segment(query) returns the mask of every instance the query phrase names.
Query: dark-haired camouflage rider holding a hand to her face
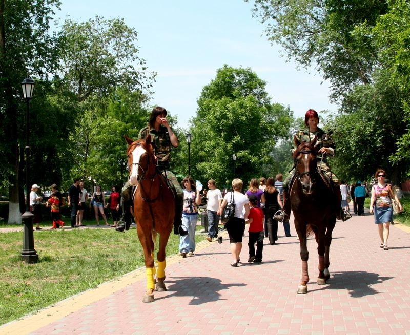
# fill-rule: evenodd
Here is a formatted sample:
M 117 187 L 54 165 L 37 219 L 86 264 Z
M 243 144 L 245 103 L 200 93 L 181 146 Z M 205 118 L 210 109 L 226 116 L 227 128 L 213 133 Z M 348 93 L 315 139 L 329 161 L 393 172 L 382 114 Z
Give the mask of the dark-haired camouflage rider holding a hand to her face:
M 162 107 L 155 107 L 151 113 L 150 121 L 147 127 L 142 128 L 138 134 L 138 139 L 146 139 L 148 135 L 151 135 L 152 146 L 154 149 L 155 157 L 157 158 L 157 165 L 161 172 L 165 173 L 167 179 L 170 181 L 171 187 L 173 186 L 175 198 L 175 219 L 174 219 L 174 233 L 178 234 L 179 227 L 181 226 L 182 206 L 183 206 L 183 191 L 178 183 L 175 175 L 169 170 L 171 159 L 171 148 L 176 148 L 178 138 L 171 129 L 167 116 L 167 110 Z M 124 217 L 122 223 L 115 229 L 120 232 L 128 230 L 131 224 L 131 217 L 129 217 L 130 206 L 132 204 L 132 185 L 129 181 L 122 187 L 122 202 L 124 208 Z

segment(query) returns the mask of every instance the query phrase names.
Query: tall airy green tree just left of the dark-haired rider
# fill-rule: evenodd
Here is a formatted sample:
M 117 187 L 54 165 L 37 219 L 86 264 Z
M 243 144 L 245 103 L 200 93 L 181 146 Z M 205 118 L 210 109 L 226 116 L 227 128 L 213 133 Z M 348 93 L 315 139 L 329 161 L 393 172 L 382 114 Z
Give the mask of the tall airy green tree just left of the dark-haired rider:
M 66 20 L 59 47 L 60 76 L 77 97 L 78 118 L 71 134 L 71 176 L 107 185 L 124 179 L 126 146 L 147 110 L 155 73 L 139 57 L 137 32 L 123 19 L 96 16 L 87 22 Z

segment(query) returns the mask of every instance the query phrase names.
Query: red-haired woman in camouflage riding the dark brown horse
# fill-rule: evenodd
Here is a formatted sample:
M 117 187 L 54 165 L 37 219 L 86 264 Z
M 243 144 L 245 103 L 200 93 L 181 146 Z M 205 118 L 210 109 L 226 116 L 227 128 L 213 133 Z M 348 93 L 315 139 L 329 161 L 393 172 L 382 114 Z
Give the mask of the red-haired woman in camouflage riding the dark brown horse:
M 322 129 L 318 127 L 319 116 L 317 112 L 313 109 L 310 109 L 306 112 L 304 116 L 304 124 L 306 128 L 299 130 L 296 133 L 296 139 L 299 142 L 311 142 L 316 136 L 316 143 L 314 144 L 315 148 L 318 150 L 318 156 L 316 157 L 317 165 L 320 171 L 325 173 L 327 177 L 332 181 L 332 186 L 334 193 L 336 195 L 336 208 L 338 208 L 337 217 L 342 221 L 346 221 L 351 218 L 351 215 L 348 212 L 343 211 L 341 208 L 342 196 L 340 193 L 339 179 L 336 175 L 330 170 L 329 165 L 327 165 L 327 156 L 335 155 L 335 144 L 329 134 L 326 134 Z M 295 144 L 292 148 L 292 154 L 296 151 Z M 276 215 L 275 219 L 278 221 L 283 221 L 284 218 L 289 218 L 291 215 L 291 202 L 289 201 L 289 183 L 291 182 L 295 170 L 292 170 L 288 177 L 283 182 L 283 211 L 281 214 Z

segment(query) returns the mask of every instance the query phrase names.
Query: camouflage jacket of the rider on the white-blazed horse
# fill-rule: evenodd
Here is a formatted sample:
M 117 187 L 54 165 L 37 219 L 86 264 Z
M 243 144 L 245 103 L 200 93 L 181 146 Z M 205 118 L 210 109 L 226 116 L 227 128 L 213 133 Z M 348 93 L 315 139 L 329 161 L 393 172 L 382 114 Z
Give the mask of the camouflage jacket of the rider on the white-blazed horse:
M 169 169 L 172 144 L 167 128 L 161 125 L 158 132 L 149 126 L 142 128 L 138 134 L 138 139 L 146 139 L 149 134 L 151 134 L 151 144 L 155 156 L 158 158 L 158 166 Z

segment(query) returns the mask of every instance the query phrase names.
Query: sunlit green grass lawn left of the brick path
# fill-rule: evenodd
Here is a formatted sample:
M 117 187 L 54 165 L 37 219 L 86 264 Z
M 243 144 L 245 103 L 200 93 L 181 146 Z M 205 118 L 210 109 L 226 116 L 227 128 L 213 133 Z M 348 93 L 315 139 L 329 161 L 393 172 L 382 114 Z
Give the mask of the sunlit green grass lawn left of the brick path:
M 95 221 L 84 223 L 91 225 Z M 197 233 L 201 230 L 198 226 Z M 196 242 L 205 237 L 197 234 Z M 133 227 L 126 233 L 114 228 L 34 232 L 34 248 L 39 255 L 36 264 L 20 258 L 22 232 L 0 233 L 0 241 L 0 324 L 144 266 L 142 247 Z M 179 237 L 172 232 L 167 255 L 178 254 L 178 246 Z

